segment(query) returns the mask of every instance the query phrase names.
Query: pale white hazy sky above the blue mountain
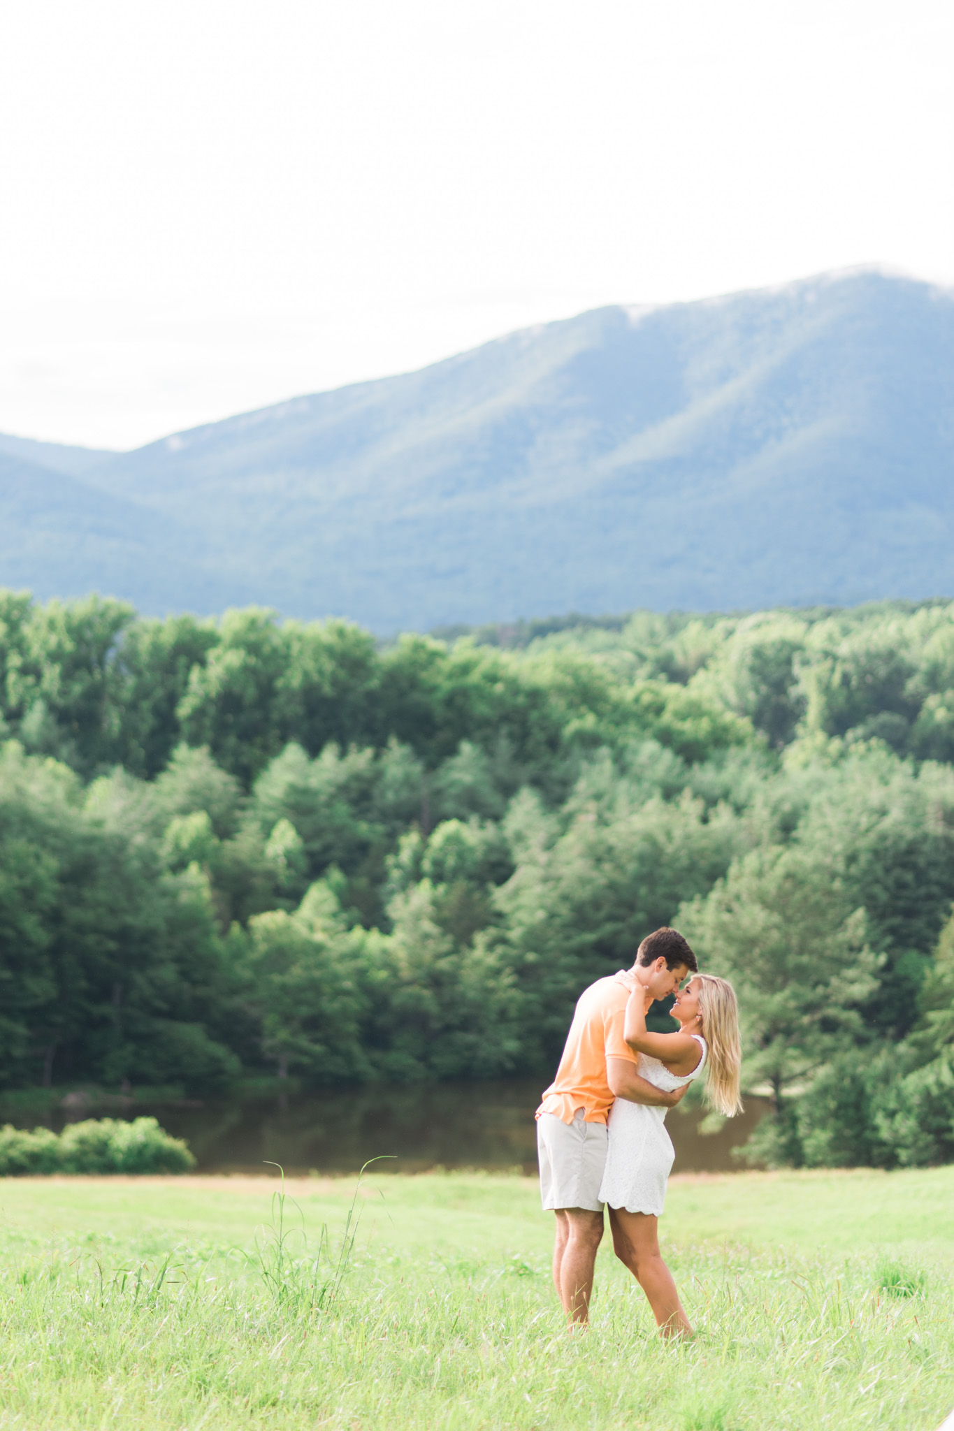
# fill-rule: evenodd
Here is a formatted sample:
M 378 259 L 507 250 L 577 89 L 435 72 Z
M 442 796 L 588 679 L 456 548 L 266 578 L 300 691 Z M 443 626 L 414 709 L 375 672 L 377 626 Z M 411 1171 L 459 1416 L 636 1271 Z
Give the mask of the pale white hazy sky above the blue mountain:
M 132 446 L 608 302 L 954 283 L 951 0 L 4 0 L 0 431 Z

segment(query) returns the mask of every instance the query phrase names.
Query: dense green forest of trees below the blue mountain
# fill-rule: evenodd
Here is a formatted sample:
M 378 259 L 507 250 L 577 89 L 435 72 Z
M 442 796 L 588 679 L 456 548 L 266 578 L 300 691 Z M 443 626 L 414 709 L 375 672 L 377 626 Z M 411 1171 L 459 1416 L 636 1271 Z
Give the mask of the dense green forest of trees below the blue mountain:
M 382 647 L 3 592 L 0 741 L 1 1086 L 545 1078 L 675 923 L 752 1156 L 954 1158 L 954 604 Z

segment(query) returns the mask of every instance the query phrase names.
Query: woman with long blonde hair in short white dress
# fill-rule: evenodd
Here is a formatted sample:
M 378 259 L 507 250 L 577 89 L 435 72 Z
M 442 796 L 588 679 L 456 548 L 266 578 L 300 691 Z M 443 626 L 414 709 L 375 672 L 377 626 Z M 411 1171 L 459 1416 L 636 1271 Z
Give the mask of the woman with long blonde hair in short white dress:
M 741 1047 L 735 990 L 715 975 L 692 975 L 675 996 L 678 1033 L 649 1033 L 652 1002 L 642 985 L 629 995 L 624 1037 L 639 1056 L 639 1073 L 671 1092 L 705 1069 L 709 1106 L 727 1118 L 739 1113 Z M 658 1218 L 675 1156 L 665 1129 L 665 1108 L 646 1108 L 618 1098 L 608 1119 L 606 1168 L 599 1188 L 609 1203 L 616 1256 L 625 1262 L 649 1299 L 664 1337 L 692 1335 L 672 1274 L 659 1255 Z

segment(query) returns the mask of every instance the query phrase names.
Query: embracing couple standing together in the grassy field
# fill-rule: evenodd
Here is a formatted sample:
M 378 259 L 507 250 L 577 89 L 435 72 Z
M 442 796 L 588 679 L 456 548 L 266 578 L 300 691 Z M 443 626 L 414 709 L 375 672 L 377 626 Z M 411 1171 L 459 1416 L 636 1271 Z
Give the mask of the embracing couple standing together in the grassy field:
M 678 1033 L 649 1033 L 649 1006 L 669 995 Z M 675 929 L 648 934 L 632 969 L 581 995 L 536 1110 L 544 1208 L 556 1213 L 554 1282 L 572 1322 L 588 1319 L 608 1205 L 614 1251 L 646 1294 L 657 1325 L 665 1337 L 692 1335 L 659 1255 L 674 1158 L 665 1115 L 702 1073 L 709 1103 L 727 1116 L 739 1112 L 739 1065 L 732 986 L 701 975 Z

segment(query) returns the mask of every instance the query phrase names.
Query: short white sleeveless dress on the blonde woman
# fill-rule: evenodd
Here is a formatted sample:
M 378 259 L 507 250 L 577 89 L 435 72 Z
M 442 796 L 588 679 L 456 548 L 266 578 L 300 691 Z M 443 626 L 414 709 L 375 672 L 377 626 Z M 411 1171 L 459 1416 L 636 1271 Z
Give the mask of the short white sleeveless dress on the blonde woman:
M 684 1083 L 691 1083 L 705 1068 L 705 1039 L 694 1033 L 702 1046 L 702 1058 L 684 1078 L 669 1073 L 659 1059 L 639 1055 L 636 1072 L 655 1088 L 671 1093 Z M 669 1169 L 675 1158 L 672 1139 L 665 1126 L 665 1108 L 648 1108 L 645 1103 L 631 1103 L 618 1098 L 609 1109 L 606 1128 L 606 1166 L 599 1185 L 599 1201 L 611 1208 L 625 1208 L 626 1212 L 649 1212 L 662 1215 Z

